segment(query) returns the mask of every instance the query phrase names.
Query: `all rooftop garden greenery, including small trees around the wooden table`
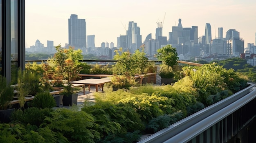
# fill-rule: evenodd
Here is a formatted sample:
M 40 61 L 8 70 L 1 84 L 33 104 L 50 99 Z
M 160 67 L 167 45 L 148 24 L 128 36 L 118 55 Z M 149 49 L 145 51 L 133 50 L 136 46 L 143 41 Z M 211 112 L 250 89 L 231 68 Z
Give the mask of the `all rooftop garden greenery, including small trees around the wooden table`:
M 178 66 L 171 45 L 161 48 L 158 57 L 163 60 L 159 65 L 162 70 L 172 73 L 172 83 L 138 84 L 136 75 L 156 73 L 154 65 L 146 62 L 143 48 L 134 54 L 116 51 L 119 62 L 111 68 L 78 62 L 80 51 L 72 47 L 56 47 L 59 51 L 47 63 L 27 64 L 18 74 L 16 88 L 22 104 L 8 122 L 1 121 L 0 142 L 135 143 L 141 134 L 153 134 L 247 87 L 247 76 L 216 63 Z M 52 81 L 60 81 L 58 84 L 67 88 L 68 81 L 81 72 L 111 74 L 112 81 L 104 86 L 105 92 L 94 92 L 95 102 L 85 101 L 81 109 L 74 105 L 70 109 L 53 108 L 56 104 L 49 91 L 58 82 Z M 0 106 L 10 102 L 4 93 L 14 89 L 7 87 L 0 85 Z M 22 99 L 31 90 L 35 98 L 25 105 Z

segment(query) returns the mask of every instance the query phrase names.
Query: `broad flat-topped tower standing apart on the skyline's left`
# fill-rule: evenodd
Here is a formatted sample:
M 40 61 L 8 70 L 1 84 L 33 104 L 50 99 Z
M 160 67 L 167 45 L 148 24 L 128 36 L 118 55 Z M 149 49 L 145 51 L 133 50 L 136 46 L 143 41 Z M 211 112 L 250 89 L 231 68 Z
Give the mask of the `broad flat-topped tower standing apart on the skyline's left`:
M 86 48 L 86 22 L 78 19 L 76 14 L 68 19 L 68 44 L 75 48 Z

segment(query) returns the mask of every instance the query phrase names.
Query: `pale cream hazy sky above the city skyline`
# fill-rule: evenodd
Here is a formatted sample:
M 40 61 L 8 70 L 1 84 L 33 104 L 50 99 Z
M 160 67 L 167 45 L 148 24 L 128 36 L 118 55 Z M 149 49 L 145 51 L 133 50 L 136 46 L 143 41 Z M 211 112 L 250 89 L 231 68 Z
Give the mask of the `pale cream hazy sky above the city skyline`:
M 169 39 L 172 26 L 182 20 L 183 27 L 198 26 L 198 36 L 204 35 L 205 24 L 211 24 L 212 39 L 223 37 L 229 29 L 236 29 L 240 38 L 255 44 L 256 0 L 26 0 L 26 47 L 39 40 L 47 46 L 68 43 L 68 19 L 71 14 L 86 21 L 86 35 L 95 35 L 95 46 L 113 42 L 126 35 L 129 21 L 140 27 L 142 42 L 152 33 L 155 39 L 157 22 L 163 23 L 163 36 Z

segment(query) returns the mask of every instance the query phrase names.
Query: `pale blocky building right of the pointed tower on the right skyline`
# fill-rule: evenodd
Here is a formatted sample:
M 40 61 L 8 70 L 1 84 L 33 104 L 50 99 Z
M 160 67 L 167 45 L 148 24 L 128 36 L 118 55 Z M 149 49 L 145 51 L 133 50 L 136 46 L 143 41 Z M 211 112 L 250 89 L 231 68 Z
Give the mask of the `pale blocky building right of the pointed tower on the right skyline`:
M 211 41 L 210 55 L 227 54 L 227 42 L 222 39 L 213 39 Z

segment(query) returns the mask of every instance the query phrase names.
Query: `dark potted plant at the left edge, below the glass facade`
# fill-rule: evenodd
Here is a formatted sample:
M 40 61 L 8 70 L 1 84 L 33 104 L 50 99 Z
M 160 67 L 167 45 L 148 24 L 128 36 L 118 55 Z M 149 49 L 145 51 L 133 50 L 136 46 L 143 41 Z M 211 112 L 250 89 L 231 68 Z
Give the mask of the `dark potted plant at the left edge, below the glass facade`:
M 0 75 L 0 122 L 8 123 L 14 108 L 9 108 L 14 96 L 14 88 L 7 84 L 6 78 Z

